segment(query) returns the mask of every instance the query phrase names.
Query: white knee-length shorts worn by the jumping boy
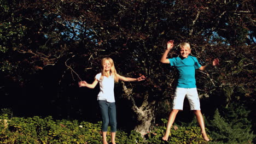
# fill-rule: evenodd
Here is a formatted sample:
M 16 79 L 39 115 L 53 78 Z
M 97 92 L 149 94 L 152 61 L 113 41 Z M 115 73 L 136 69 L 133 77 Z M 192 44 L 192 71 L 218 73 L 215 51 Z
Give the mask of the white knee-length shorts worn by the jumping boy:
M 201 110 L 197 89 L 180 87 L 176 88 L 172 109 L 183 110 L 183 103 L 186 96 L 189 101 L 190 110 Z

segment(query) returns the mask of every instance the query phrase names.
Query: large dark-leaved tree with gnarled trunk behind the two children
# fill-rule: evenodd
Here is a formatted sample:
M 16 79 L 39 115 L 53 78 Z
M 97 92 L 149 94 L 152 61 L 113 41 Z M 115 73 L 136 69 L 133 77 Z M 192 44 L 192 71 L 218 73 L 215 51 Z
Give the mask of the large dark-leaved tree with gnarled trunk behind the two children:
M 155 112 L 168 105 L 163 101 L 175 88 L 176 70 L 159 62 L 167 40 L 173 39 L 176 48 L 188 41 L 191 55 L 201 64 L 220 58 L 220 67 L 197 72 L 200 97 L 216 100 L 218 95 L 219 102 L 228 105 L 254 93 L 253 1 L 0 2 L 6 11 L 0 21 L 4 77 L 27 85 L 28 74 L 52 66 L 57 70 L 53 86 L 59 98 L 65 88 L 77 86 L 80 77 L 92 80 L 100 59 L 112 57 L 118 73 L 147 77 L 145 82 L 117 85 L 123 88 L 118 93 L 131 101 L 138 122 L 135 129 L 141 134 L 149 131 Z M 69 95 L 65 100 L 71 97 L 78 98 Z

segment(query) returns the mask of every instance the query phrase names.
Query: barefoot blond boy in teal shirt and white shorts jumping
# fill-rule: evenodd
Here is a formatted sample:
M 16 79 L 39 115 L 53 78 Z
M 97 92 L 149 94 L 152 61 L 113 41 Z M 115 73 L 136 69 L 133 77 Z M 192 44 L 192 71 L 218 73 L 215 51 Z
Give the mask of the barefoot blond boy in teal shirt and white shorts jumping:
M 190 45 L 188 43 L 181 43 L 180 47 L 180 56 L 167 59 L 168 52 L 173 48 L 173 40 L 168 41 L 167 49 L 162 55 L 162 63 L 170 63 L 171 66 L 174 66 L 178 69 L 179 79 L 175 92 L 175 97 L 173 99 L 173 108 L 170 113 L 167 128 L 164 137 L 162 140 L 167 141 L 168 136 L 170 135 L 172 124 L 175 120 L 175 117 L 179 110 L 183 110 L 183 101 L 185 96 L 189 100 L 190 110 L 196 115 L 197 122 L 200 125 L 202 137 L 205 141 L 209 141 L 209 138 L 205 131 L 205 123 L 203 122 L 203 116 L 200 110 L 200 101 L 197 94 L 196 82 L 195 82 L 195 70 L 205 70 L 209 64 L 201 66 L 197 61 L 196 57 L 189 56 Z M 212 65 L 218 65 L 219 59 L 214 59 Z

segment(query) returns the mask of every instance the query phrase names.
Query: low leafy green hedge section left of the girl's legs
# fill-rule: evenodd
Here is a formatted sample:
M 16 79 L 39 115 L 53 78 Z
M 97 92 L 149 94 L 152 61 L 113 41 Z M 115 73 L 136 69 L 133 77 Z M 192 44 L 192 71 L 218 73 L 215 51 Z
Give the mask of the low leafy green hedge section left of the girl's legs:
M 4 119 L 6 117 L 1 117 Z M 1 126 L 3 122 L 1 121 Z M 13 117 L 1 127 L 0 143 L 101 143 L 101 123 Z

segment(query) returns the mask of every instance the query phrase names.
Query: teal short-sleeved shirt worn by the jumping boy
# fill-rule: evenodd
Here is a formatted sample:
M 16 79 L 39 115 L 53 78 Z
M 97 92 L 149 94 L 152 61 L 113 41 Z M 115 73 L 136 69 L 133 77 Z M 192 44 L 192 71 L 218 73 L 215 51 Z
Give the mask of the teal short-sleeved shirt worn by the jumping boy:
M 179 71 L 179 79 L 177 87 L 181 88 L 195 88 L 195 70 L 199 69 L 201 65 L 196 57 L 188 56 L 181 59 L 180 57 L 169 58 L 171 66 L 174 66 Z

